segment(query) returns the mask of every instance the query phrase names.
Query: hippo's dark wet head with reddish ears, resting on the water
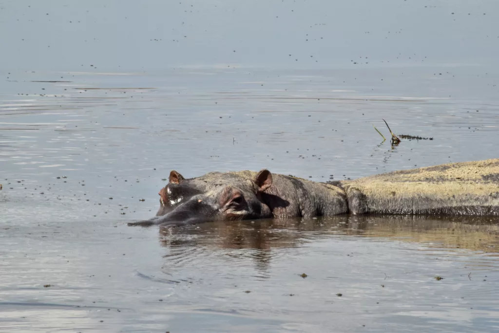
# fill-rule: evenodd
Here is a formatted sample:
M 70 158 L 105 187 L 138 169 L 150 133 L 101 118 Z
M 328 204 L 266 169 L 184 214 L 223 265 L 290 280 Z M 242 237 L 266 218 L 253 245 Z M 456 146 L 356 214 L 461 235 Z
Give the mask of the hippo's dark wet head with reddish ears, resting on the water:
M 254 172 L 213 172 L 185 179 L 176 171 L 159 192 L 156 217 L 130 225 L 190 225 L 208 221 L 246 220 L 272 217 L 261 193 L 272 185 L 266 169 Z

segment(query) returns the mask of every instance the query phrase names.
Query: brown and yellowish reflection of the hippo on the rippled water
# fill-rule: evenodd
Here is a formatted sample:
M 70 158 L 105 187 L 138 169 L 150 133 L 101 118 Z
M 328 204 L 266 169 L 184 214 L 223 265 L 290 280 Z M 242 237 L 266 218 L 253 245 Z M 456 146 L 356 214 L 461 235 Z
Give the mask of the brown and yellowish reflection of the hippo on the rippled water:
M 180 229 L 160 227 L 160 243 L 169 249 L 165 258 L 170 263 L 176 263 L 175 258 L 184 262 L 191 255 L 198 256 L 197 251 L 189 252 L 192 249 L 219 249 L 233 258 L 253 259 L 257 270 L 265 270 L 272 256 L 279 255 L 279 251 L 272 250 L 306 247 L 307 243 L 329 238 L 352 239 L 351 236 L 418 243 L 433 250 L 469 250 L 496 257 L 499 225 L 497 219 L 489 217 L 336 216 L 215 222 Z

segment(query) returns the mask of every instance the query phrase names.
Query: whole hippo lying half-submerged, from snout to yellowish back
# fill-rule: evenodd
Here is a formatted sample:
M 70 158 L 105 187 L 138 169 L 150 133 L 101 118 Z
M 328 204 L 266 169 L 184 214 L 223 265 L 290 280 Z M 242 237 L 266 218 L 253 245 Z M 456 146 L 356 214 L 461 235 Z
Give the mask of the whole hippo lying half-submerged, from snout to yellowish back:
M 188 225 L 215 220 L 428 214 L 499 216 L 499 159 L 395 171 L 317 183 L 260 172 L 170 173 L 151 220 L 129 225 Z

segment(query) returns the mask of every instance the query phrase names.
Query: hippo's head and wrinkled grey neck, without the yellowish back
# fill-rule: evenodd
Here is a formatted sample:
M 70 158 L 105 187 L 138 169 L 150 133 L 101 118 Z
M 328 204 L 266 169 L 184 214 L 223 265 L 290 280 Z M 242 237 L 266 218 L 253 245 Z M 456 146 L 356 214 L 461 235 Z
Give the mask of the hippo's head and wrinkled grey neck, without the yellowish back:
M 190 225 L 215 220 L 330 216 L 347 212 L 338 186 L 259 172 L 210 172 L 184 179 L 176 171 L 160 190 L 156 217 L 129 225 Z

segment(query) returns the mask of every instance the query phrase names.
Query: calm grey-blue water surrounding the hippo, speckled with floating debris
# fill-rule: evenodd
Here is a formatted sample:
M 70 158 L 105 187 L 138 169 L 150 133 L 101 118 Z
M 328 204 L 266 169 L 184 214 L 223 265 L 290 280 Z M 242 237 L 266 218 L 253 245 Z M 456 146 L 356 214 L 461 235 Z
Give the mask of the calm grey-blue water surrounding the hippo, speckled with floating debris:
M 126 227 L 172 169 L 498 157 L 495 1 L 267 2 L 0 2 L 0 331 L 499 330 L 497 219 Z

